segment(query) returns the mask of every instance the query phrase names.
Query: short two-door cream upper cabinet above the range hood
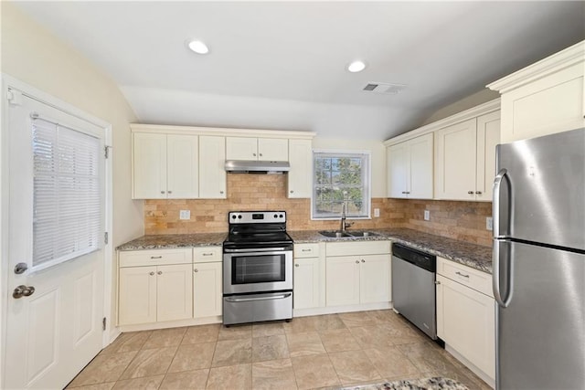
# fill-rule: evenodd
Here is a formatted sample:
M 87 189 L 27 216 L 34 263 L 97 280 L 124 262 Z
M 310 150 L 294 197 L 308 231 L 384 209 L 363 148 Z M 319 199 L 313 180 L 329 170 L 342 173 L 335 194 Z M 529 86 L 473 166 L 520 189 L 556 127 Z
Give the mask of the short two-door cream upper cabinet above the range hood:
M 228 137 L 228 160 L 288 161 L 288 140 L 283 138 Z

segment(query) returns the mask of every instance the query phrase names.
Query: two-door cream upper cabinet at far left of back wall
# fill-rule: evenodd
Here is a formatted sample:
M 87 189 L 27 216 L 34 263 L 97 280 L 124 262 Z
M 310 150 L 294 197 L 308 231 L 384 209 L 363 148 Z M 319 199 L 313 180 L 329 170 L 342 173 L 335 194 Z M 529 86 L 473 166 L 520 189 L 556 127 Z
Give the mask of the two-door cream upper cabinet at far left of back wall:
M 197 198 L 198 137 L 133 133 L 133 199 Z

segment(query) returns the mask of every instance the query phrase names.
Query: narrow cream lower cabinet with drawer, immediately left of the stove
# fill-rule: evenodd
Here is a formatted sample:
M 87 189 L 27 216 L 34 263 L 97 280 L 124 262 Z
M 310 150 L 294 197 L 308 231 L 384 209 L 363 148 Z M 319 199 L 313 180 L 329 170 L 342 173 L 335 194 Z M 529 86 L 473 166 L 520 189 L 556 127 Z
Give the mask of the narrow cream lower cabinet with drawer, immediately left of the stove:
M 193 248 L 193 317 L 219 316 L 222 312 L 221 247 Z

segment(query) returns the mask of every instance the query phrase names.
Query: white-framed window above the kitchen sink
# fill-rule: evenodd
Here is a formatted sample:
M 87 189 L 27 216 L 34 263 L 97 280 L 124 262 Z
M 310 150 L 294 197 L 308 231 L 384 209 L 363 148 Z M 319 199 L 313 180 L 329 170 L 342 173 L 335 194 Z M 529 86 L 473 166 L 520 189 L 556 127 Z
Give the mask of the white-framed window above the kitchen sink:
M 315 151 L 313 154 L 313 219 L 346 216 L 369 218 L 369 153 Z

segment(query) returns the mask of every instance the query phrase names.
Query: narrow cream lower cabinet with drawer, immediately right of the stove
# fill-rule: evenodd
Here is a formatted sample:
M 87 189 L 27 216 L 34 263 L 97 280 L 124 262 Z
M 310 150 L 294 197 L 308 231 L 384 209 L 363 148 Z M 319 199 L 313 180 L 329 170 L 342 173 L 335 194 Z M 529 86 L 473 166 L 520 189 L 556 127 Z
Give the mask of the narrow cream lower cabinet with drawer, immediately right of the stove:
M 294 244 L 293 308 L 324 306 L 324 258 L 320 244 Z

